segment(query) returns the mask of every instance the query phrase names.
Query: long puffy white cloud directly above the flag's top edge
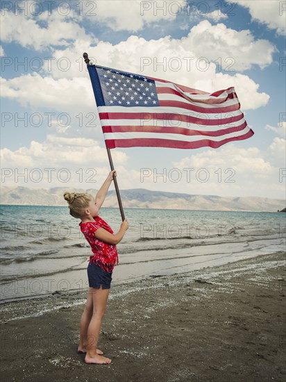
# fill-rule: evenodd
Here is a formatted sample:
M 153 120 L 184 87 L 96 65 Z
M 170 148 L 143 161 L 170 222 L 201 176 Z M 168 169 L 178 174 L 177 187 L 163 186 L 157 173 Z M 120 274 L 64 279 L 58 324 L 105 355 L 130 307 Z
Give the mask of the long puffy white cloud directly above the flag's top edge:
M 209 79 L 216 70 L 226 69 L 233 75 L 253 65 L 265 67 L 272 63 L 272 54 L 276 51 L 270 42 L 255 40 L 249 31 L 237 32 L 224 24 L 212 26 L 204 20 L 180 39 L 165 36 L 145 40 L 131 35 L 118 44 L 101 41 L 95 47 L 78 39 L 65 49 L 53 49 L 54 60 L 46 60 L 44 69 L 53 78 L 86 76 L 83 49 L 99 65 L 158 78 L 167 76 L 166 79 L 185 85 L 194 81 L 193 78 Z M 68 70 L 65 70 L 64 58 L 69 60 Z

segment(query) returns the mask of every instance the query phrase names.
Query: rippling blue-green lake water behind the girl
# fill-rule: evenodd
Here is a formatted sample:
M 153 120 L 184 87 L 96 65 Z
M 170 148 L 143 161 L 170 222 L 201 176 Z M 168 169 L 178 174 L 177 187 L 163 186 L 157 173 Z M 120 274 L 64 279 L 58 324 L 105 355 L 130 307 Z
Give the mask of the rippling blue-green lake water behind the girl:
M 100 216 L 117 232 L 119 209 Z M 118 246 L 112 288 L 285 251 L 286 214 L 203 210 L 124 210 L 130 228 Z M 1 302 L 86 290 L 92 254 L 79 219 L 60 206 L 1 206 Z

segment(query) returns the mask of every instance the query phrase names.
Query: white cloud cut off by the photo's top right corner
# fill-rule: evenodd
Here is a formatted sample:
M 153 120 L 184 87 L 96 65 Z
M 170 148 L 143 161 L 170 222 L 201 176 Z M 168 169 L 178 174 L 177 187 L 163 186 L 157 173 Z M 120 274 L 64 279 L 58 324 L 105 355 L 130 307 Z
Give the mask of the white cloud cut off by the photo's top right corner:
M 279 35 L 285 34 L 285 1 L 280 0 L 234 0 L 249 9 L 253 20 L 276 29 Z

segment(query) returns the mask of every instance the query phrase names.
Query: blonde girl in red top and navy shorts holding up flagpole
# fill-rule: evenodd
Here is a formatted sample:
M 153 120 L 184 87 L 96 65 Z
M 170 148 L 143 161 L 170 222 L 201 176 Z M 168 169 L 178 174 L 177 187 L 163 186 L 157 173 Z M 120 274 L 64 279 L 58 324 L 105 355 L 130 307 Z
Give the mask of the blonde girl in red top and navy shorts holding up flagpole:
M 81 219 L 81 232 L 92 248 L 93 255 L 87 266 L 87 276 L 90 288 L 87 293 L 85 310 L 81 317 L 81 340 L 78 353 L 86 353 L 85 363 L 111 363 L 110 358 L 103 357 L 103 352 L 96 349 L 101 329 L 101 320 L 106 312 L 106 303 L 112 280 L 112 271 L 118 264 L 116 244 L 118 244 L 128 229 L 125 219 L 119 231 L 114 234 L 110 226 L 99 217 L 99 209 L 103 204 L 110 183 L 116 176 L 111 171 L 96 197 L 90 194 L 73 194 L 65 192 L 64 198 L 69 204 L 69 213 Z

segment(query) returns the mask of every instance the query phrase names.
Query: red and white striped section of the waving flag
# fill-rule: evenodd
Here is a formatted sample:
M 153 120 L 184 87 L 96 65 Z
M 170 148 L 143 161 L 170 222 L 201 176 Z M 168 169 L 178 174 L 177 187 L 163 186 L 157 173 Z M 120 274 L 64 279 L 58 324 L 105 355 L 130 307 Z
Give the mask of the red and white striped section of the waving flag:
M 155 80 L 160 106 L 100 106 L 106 146 L 220 147 L 253 135 L 234 88 L 212 94 Z M 153 89 L 153 91 L 155 91 Z

